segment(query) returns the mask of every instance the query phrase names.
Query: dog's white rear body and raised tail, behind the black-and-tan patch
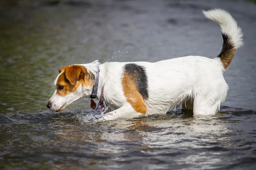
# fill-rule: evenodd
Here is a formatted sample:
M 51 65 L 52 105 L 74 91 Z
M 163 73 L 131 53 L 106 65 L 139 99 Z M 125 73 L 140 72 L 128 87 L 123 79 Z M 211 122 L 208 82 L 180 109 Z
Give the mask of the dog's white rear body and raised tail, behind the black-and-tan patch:
M 184 109 L 193 109 L 194 115 L 211 115 L 226 99 L 228 85 L 223 72 L 243 44 L 241 28 L 221 9 L 203 13 L 221 26 L 221 53 L 215 59 L 187 56 L 150 64 L 135 62 L 145 67 L 148 75 L 146 114 L 164 114 L 181 103 Z

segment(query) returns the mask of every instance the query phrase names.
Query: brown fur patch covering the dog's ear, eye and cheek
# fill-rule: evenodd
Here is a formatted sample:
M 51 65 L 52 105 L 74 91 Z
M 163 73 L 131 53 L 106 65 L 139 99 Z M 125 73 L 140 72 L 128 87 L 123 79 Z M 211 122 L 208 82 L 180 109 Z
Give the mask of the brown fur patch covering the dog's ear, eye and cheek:
M 82 86 L 87 88 L 93 87 L 94 75 L 87 73 L 87 69 L 81 65 L 66 65 L 59 70 L 63 73 L 58 77 L 56 89 L 59 96 L 66 96 L 67 94 L 76 91 L 82 83 Z

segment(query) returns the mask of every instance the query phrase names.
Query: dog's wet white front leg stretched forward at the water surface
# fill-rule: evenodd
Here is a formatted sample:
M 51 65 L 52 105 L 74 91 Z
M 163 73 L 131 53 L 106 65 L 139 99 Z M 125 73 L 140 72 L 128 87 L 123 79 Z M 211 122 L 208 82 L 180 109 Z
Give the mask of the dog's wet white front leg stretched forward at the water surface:
M 127 119 L 145 115 L 143 113 L 138 113 L 132 108 L 130 104 L 123 105 L 121 108 L 118 108 L 114 111 L 106 113 L 103 117 L 103 121 L 105 120 L 113 120 L 113 119 Z

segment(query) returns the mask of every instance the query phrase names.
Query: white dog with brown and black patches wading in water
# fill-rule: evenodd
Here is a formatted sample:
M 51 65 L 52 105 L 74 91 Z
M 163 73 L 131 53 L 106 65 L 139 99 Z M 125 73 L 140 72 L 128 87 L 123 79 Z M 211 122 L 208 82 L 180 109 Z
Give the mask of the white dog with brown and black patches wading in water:
M 214 115 L 227 97 L 223 73 L 243 45 L 243 35 L 227 11 L 212 9 L 203 14 L 221 27 L 223 47 L 214 59 L 186 56 L 158 62 L 100 64 L 96 60 L 67 65 L 59 70 L 47 107 L 60 112 L 75 100 L 90 96 L 100 99 L 102 110 L 103 100 L 111 105 L 104 120 L 166 114 L 178 104 L 192 110 L 194 116 Z

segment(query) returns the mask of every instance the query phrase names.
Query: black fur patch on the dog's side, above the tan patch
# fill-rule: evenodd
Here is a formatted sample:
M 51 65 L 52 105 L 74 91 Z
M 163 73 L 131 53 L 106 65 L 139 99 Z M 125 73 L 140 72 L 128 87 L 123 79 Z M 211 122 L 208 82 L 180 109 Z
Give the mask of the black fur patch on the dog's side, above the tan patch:
M 148 99 L 148 76 L 143 66 L 130 63 L 124 66 L 126 72 L 134 77 L 136 87 L 144 99 Z

